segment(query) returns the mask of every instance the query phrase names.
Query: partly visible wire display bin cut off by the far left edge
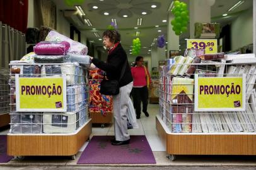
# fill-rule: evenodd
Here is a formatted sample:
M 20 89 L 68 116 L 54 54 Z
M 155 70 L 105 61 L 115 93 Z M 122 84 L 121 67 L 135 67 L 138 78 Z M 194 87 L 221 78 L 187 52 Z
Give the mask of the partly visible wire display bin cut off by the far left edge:
M 9 70 L 0 68 L 0 128 L 9 125 Z

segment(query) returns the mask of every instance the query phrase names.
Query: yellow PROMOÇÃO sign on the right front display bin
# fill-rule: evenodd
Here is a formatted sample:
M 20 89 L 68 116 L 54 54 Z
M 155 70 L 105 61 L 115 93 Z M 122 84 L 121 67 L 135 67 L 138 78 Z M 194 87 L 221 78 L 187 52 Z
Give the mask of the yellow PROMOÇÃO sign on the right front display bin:
M 195 111 L 245 111 L 245 80 L 195 74 Z

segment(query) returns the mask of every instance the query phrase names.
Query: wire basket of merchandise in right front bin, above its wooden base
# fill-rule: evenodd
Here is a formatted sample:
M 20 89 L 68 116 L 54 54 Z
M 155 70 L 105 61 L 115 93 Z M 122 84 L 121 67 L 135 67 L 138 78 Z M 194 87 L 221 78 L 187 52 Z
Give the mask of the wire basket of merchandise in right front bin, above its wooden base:
M 166 62 L 172 65 L 163 66 L 161 69 L 160 117 L 171 132 L 256 132 L 254 88 L 256 66 L 253 60 L 251 60 L 252 63 L 248 63 L 249 59 L 255 55 L 246 54 L 243 55 L 243 59 L 240 57 L 239 54 L 224 56 L 223 53 L 201 55 L 194 57 L 192 64 L 187 64 L 189 66 L 186 67 L 183 65 L 179 70 L 177 66 L 180 65 L 181 56 L 178 56 L 178 60 L 175 59 L 175 64 L 172 61 Z M 239 64 L 238 60 L 240 60 Z M 185 70 L 182 71 L 183 74 L 177 74 L 181 69 Z M 245 75 L 245 93 L 242 94 L 245 96 L 245 110 L 195 111 L 196 75 L 198 77 L 242 77 Z M 206 100 L 204 102 L 207 103 Z

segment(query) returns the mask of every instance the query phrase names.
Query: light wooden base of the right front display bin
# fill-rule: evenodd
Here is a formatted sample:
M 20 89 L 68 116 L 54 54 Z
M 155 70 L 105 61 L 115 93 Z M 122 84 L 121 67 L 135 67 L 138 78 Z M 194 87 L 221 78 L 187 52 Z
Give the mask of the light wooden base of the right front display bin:
M 256 155 L 256 133 L 171 133 L 156 116 L 156 130 L 175 155 Z

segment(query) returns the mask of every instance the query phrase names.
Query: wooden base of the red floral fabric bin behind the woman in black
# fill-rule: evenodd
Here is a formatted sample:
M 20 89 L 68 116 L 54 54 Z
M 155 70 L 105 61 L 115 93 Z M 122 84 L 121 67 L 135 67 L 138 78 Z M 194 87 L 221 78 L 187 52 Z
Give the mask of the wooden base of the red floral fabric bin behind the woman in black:
M 91 123 L 112 123 L 113 113 L 107 112 L 106 116 L 103 116 L 100 112 L 90 112 Z

